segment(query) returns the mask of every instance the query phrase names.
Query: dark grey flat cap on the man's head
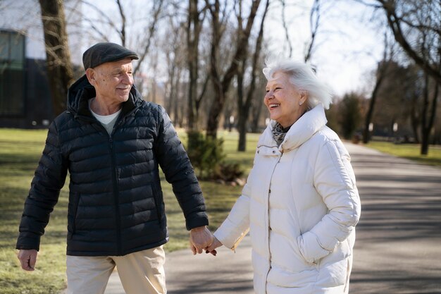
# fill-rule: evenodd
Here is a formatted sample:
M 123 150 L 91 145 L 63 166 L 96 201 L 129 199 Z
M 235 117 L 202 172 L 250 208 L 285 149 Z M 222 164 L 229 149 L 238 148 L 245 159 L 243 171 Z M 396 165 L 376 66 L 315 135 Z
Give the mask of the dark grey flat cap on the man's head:
M 100 64 L 121 59 L 139 59 L 134 51 L 131 51 L 116 43 L 102 42 L 94 44 L 82 54 L 82 64 L 87 68 L 94 68 Z

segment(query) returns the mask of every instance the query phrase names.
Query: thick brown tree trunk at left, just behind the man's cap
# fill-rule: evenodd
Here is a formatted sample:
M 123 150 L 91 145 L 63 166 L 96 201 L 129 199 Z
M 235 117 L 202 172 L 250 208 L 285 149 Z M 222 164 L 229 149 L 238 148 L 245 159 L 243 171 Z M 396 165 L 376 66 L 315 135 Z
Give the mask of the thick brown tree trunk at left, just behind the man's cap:
M 46 69 L 51 90 L 52 107 L 58 116 L 66 110 L 68 87 L 73 83 L 66 18 L 62 0 L 39 0 L 42 11 Z

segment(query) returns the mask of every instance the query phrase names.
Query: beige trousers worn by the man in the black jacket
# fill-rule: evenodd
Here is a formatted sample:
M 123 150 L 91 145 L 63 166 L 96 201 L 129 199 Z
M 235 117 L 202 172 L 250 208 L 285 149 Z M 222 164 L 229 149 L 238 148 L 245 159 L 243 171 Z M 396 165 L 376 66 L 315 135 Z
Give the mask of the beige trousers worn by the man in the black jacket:
M 68 255 L 68 294 L 103 294 L 115 267 L 118 269 L 125 293 L 165 294 L 165 260 L 162 246 L 124 256 Z

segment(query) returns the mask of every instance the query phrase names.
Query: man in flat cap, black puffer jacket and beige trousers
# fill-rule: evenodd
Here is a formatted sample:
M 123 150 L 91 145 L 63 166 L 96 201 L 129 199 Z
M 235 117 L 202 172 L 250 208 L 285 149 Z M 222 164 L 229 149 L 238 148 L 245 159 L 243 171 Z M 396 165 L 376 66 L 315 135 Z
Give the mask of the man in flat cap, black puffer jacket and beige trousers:
M 135 52 L 99 43 L 49 127 L 20 223 L 18 259 L 32 271 L 69 171 L 68 293 L 104 293 L 118 267 L 128 294 L 166 293 L 168 240 L 159 166 L 185 214 L 194 254 L 213 242 L 190 160 L 164 109 L 133 87 Z

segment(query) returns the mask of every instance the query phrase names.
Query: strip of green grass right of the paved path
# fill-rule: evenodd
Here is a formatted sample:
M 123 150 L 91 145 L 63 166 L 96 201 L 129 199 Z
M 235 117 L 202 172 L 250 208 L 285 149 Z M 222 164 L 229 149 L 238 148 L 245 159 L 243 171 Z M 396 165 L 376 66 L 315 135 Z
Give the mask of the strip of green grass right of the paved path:
M 420 145 L 415 144 L 393 144 L 391 142 L 369 142 L 367 147 L 377 149 L 380 152 L 392 154 L 418 161 L 421 164 L 441 166 L 441 147 L 430 145 L 428 155 L 420 154 Z

